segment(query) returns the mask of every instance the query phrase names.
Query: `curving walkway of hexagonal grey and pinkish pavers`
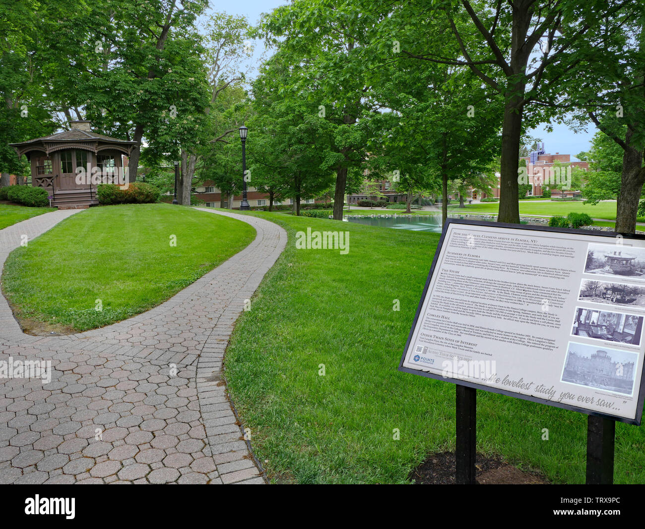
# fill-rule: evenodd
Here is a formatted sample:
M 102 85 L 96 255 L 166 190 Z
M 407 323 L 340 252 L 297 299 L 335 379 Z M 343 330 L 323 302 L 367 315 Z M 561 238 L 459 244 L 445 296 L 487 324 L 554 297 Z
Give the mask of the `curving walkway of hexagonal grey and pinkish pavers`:
M 264 482 L 221 368 L 244 300 L 283 251 L 286 232 L 251 216 L 201 211 L 249 223 L 257 236 L 144 314 L 77 335 L 34 337 L 0 296 L 0 360 L 52 360 L 49 384 L 0 379 L 0 483 Z M 75 213 L 1 230 L 0 268 L 21 236 L 32 240 Z

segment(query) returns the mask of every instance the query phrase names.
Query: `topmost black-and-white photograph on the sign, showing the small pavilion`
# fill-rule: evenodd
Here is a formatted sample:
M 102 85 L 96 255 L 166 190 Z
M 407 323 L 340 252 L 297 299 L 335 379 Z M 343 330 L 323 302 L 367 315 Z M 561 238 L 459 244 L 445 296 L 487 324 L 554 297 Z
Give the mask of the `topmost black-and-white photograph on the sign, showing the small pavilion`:
M 590 243 L 584 271 L 587 274 L 645 281 L 645 248 L 626 244 Z

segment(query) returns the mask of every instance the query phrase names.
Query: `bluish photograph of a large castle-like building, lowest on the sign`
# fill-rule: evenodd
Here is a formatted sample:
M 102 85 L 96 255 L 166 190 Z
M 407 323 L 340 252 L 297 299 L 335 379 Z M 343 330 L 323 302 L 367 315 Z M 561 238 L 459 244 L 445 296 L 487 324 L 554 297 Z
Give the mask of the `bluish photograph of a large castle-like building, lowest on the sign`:
M 562 382 L 631 395 L 639 355 L 569 342 Z

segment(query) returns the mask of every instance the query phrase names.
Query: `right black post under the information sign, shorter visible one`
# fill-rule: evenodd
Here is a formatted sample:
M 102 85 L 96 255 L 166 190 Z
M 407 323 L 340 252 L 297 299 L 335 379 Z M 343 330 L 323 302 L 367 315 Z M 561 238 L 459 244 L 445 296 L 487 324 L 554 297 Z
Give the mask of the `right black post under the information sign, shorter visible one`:
M 587 422 L 587 484 L 613 484 L 616 421 L 589 416 Z

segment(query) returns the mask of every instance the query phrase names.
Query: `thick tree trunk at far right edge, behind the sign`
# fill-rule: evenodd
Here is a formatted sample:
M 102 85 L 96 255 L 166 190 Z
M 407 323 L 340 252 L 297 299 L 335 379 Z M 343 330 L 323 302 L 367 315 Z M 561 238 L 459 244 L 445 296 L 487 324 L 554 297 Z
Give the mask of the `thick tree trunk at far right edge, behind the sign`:
M 645 183 L 645 167 L 643 155 L 631 147 L 633 130 L 628 129 L 625 143 L 628 149 L 622 154 L 622 174 L 620 176 L 620 190 L 616 203 L 616 233 L 635 233 L 636 218 L 639 209 L 640 193 Z

